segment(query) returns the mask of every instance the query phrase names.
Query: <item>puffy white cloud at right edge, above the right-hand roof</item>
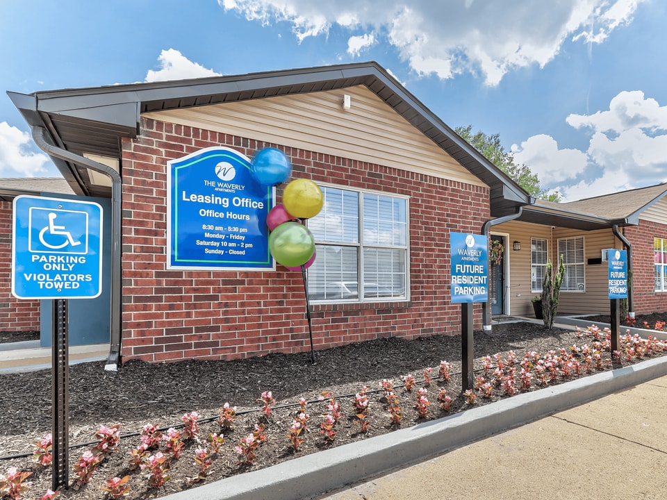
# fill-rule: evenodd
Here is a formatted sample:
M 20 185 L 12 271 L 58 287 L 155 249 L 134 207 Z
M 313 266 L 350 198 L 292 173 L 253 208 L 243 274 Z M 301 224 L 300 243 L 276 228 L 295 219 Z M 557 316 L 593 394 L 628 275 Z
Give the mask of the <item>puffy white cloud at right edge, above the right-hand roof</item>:
M 548 135 L 511 149 L 568 201 L 667 181 L 667 106 L 643 92 L 620 92 L 609 110 L 569 115 L 566 122 L 591 131 L 586 151 L 558 149 Z

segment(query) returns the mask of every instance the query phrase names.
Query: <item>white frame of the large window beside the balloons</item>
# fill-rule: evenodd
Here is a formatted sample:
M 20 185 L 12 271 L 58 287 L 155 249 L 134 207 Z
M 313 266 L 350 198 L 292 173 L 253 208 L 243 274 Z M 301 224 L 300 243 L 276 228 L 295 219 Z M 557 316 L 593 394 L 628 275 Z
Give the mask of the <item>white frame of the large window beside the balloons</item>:
M 331 188 L 336 190 L 341 190 L 343 192 L 354 192 L 358 195 L 359 201 L 359 233 L 354 242 L 341 242 L 341 241 L 327 241 L 327 240 L 318 240 L 315 238 L 315 251 L 318 252 L 318 247 L 323 246 L 332 246 L 332 247 L 347 247 L 356 249 L 356 276 L 357 283 L 359 283 L 358 294 L 354 299 L 318 299 L 311 297 L 313 303 L 363 303 L 363 302 L 404 302 L 409 301 L 410 299 L 410 197 L 404 196 L 402 194 L 394 194 L 383 191 L 375 190 L 365 190 L 359 188 L 351 188 L 349 186 L 341 186 L 336 184 L 329 183 L 318 183 L 322 188 Z M 364 194 L 370 194 L 374 196 L 386 197 L 390 199 L 400 199 L 405 202 L 405 244 L 404 245 L 386 245 L 386 244 L 374 244 L 364 243 L 363 238 L 363 197 Z M 308 224 L 311 224 L 311 221 L 308 221 Z M 364 249 L 399 249 L 404 251 L 405 259 L 405 278 L 404 278 L 404 293 L 396 297 L 363 297 L 364 288 L 363 288 L 363 264 L 364 264 Z M 315 256 L 315 263 L 317 263 L 317 256 Z M 310 283 L 308 283 L 308 292 L 311 292 Z

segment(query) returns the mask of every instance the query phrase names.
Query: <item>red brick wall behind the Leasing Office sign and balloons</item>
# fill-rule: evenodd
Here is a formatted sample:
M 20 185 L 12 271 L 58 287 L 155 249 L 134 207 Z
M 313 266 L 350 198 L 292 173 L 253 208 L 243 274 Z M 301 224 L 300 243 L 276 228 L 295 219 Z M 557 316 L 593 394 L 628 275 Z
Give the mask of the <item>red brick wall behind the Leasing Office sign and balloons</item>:
M 481 231 L 489 217 L 487 188 L 144 119 L 140 138 L 123 144 L 123 360 L 231 359 L 310 348 L 300 273 L 281 266 L 277 272 L 166 269 L 167 160 L 220 145 L 249 158 L 277 146 L 290 156 L 293 178 L 411 196 L 411 301 L 312 305 L 315 349 L 460 333 L 461 307 L 449 301 L 449 233 Z M 478 305 L 475 325 L 481 326 Z

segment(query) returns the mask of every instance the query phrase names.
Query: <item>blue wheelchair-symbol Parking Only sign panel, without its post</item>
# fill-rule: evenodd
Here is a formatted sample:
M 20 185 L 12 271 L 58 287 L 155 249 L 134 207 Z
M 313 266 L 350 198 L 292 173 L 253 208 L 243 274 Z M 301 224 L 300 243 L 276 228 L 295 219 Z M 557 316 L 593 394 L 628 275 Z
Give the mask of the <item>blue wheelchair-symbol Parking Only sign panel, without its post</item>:
M 12 294 L 94 299 L 102 291 L 102 208 L 92 201 L 14 199 Z

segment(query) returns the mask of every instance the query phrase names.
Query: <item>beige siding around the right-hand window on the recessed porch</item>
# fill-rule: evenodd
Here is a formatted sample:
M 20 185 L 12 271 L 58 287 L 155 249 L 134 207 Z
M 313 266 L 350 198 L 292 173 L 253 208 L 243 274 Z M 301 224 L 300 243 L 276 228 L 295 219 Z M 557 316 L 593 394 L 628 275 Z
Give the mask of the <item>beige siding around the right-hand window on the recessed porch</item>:
M 611 229 L 600 231 L 576 231 L 556 228 L 552 240 L 552 253 L 558 251 L 559 238 L 584 237 L 584 283 L 585 291 L 564 292 L 561 290 L 558 311 L 562 314 L 609 314 L 609 269 L 607 263 L 588 264 L 589 258 L 600 258 L 602 249 L 622 248 L 620 242 L 611 233 Z M 555 259 L 554 259 L 555 265 Z

